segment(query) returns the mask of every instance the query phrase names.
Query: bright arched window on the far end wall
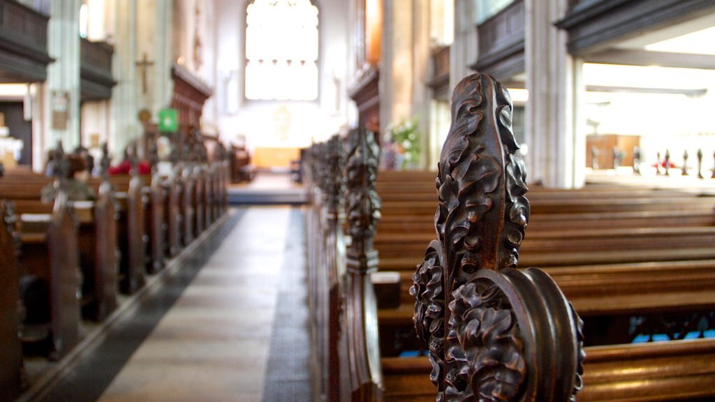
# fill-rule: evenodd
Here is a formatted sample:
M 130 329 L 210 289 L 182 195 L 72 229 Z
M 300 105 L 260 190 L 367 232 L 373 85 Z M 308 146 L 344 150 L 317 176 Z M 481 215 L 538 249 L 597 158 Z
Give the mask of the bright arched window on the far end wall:
M 317 99 L 317 7 L 253 0 L 246 11 L 246 98 Z

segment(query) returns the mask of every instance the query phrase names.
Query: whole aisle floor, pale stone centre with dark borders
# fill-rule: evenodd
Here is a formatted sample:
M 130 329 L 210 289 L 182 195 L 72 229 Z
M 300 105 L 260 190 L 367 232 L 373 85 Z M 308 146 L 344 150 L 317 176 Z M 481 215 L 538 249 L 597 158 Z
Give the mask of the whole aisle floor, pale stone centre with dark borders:
M 35 400 L 308 401 L 302 212 L 239 215 Z

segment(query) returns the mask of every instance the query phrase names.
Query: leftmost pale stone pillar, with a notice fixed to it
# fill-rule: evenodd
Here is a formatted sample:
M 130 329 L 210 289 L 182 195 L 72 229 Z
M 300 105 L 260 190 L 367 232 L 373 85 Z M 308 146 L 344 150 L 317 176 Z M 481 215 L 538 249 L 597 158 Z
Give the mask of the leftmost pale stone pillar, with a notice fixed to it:
M 55 61 L 47 66 L 44 84 L 45 147 L 54 148 L 61 140 L 68 151 L 79 144 L 80 6 L 81 0 L 49 4 L 47 50 Z

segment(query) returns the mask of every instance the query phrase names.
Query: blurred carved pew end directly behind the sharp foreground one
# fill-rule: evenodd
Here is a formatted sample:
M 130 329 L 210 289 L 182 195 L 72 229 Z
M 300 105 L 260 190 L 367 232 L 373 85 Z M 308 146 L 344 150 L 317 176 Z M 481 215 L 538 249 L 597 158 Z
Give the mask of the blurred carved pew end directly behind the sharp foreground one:
M 352 401 L 380 401 L 383 394 L 377 299 L 369 275 L 378 268 L 373 239 L 380 220 L 379 154 L 373 132 L 358 129 L 348 137 L 345 187 L 352 245 L 347 249 L 345 335 Z

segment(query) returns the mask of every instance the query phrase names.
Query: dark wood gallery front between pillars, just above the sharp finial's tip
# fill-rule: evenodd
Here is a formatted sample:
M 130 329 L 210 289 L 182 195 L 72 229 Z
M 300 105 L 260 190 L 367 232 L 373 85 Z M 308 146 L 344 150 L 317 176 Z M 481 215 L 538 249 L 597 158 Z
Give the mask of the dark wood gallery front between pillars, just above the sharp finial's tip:
M 524 1 L 514 1 L 477 27 L 479 58 L 470 68 L 508 79 L 526 70 Z

